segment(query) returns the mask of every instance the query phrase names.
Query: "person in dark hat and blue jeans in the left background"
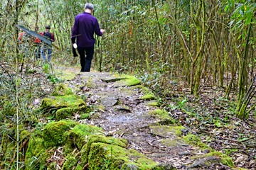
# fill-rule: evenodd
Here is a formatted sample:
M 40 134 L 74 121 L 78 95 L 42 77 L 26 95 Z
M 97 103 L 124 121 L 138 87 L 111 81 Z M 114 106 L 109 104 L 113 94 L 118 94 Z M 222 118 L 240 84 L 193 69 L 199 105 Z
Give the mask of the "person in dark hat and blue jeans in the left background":
M 50 33 L 50 26 L 46 25 L 46 31 L 41 33 L 43 37 L 48 38 L 51 42 L 55 41 L 54 34 Z M 50 58 L 53 52 L 52 46 L 47 45 L 46 43 L 43 43 L 42 49 L 41 49 L 41 55 L 43 57 L 43 60 L 46 60 L 46 52 L 48 54 L 48 62 L 50 62 Z

